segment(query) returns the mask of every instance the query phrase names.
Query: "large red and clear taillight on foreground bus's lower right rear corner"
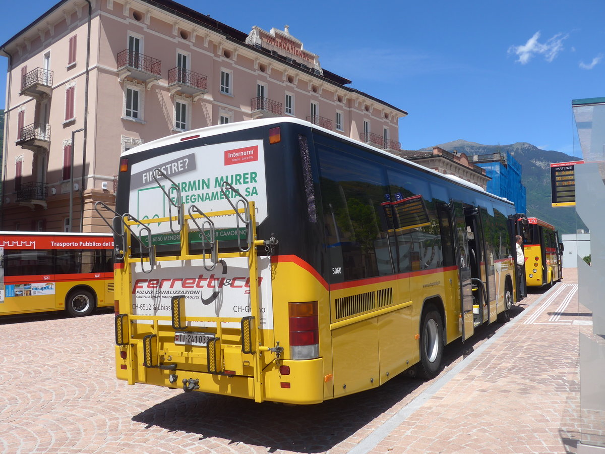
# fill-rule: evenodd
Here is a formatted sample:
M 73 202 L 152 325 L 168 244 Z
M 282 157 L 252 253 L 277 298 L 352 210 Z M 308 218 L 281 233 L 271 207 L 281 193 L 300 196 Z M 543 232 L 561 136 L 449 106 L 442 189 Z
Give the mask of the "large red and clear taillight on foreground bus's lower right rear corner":
M 317 301 L 289 303 L 290 354 L 293 360 L 319 357 Z

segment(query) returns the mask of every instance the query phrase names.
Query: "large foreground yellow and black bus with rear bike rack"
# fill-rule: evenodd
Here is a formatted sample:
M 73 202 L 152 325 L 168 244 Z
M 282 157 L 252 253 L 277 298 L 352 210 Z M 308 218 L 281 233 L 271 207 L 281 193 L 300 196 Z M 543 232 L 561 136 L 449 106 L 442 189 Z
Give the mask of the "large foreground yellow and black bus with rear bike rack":
M 133 148 L 116 202 L 129 384 L 319 403 L 435 377 L 514 300 L 512 203 L 298 119 Z

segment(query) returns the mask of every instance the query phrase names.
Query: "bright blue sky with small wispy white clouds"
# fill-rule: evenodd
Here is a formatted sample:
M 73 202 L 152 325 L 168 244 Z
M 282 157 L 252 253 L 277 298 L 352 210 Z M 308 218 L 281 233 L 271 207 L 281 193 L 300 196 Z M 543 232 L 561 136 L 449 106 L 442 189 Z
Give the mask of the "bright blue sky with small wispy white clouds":
M 241 31 L 289 25 L 322 67 L 408 112 L 408 150 L 465 139 L 580 156 L 571 100 L 605 96 L 603 0 L 180 2 Z M 0 41 L 53 4 L 5 11 Z

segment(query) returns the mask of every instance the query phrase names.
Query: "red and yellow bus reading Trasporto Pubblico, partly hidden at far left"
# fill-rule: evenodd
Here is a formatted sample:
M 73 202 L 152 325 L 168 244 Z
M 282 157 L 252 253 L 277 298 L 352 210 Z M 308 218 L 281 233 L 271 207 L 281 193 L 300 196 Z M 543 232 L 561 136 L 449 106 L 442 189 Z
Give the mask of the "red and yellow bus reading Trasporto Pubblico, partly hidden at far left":
M 0 315 L 113 306 L 113 236 L 0 232 Z

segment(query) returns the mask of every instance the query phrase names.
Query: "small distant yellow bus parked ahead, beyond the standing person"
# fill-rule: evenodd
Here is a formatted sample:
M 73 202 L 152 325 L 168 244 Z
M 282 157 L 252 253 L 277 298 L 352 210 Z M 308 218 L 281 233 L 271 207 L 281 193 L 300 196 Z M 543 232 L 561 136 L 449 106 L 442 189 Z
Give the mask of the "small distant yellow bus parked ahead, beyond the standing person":
M 517 235 L 523 237 L 525 254 L 525 280 L 528 287 L 551 287 L 563 277 L 557 229 L 541 219 L 520 216 L 517 219 Z

